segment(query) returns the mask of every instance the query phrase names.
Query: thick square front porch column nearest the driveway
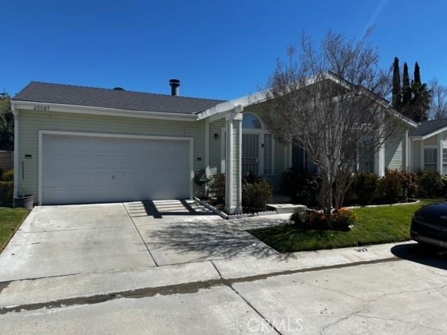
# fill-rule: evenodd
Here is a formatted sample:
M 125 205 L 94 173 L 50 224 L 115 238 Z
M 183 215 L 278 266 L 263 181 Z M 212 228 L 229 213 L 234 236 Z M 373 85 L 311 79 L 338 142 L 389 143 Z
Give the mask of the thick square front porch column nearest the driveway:
M 225 211 L 242 213 L 242 106 L 226 114 Z

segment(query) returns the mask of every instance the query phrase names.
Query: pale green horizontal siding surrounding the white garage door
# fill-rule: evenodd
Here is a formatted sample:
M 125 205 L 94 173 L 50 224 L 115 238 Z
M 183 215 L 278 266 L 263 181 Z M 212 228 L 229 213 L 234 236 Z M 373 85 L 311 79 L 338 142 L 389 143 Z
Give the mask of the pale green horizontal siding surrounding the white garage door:
M 38 195 L 38 131 L 75 131 L 86 133 L 114 133 L 129 135 L 154 135 L 193 137 L 194 170 L 205 168 L 205 121 L 165 121 L 137 119 L 133 117 L 105 117 L 100 115 L 73 114 L 61 112 L 19 112 L 19 166 L 17 176 L 22 176 L 22 160 L 25 154 L 31 159 L 24 161 L 24 193 Z M 198 161 L 197 158 L 201 158 Z M 194 194 L 203 187 L 194 184 Z M 19 192 L 22 180 L 19 178 Z

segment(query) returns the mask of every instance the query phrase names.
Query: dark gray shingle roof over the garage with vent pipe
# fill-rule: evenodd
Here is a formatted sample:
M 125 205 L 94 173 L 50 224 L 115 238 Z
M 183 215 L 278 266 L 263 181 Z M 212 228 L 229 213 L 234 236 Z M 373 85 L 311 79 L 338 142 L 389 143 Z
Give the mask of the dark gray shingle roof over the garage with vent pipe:
M 223 102 L 221 100 L 98 89 L 96 87 L 50 84 L 47 82 L 30 82 L 13 100 L 179 114 L 195 114 Z

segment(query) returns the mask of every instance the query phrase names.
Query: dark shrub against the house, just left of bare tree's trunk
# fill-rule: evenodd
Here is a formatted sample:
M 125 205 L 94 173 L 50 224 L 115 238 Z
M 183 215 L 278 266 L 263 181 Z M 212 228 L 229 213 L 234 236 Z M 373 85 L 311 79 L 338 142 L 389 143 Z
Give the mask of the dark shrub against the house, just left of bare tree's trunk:
M 287 170 L 281 177 L 286 195 L 291 196 L 294 204 L 305 204 L 308 207 L 318 206 L 321 189 L 319 174 Z

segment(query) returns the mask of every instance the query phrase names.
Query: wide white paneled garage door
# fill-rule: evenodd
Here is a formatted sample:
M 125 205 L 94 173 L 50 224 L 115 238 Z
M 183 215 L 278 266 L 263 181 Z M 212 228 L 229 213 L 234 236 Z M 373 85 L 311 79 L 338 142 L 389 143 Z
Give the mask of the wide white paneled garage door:
M 43 204 L 189 198 L 188 140 L 43 135 Z

